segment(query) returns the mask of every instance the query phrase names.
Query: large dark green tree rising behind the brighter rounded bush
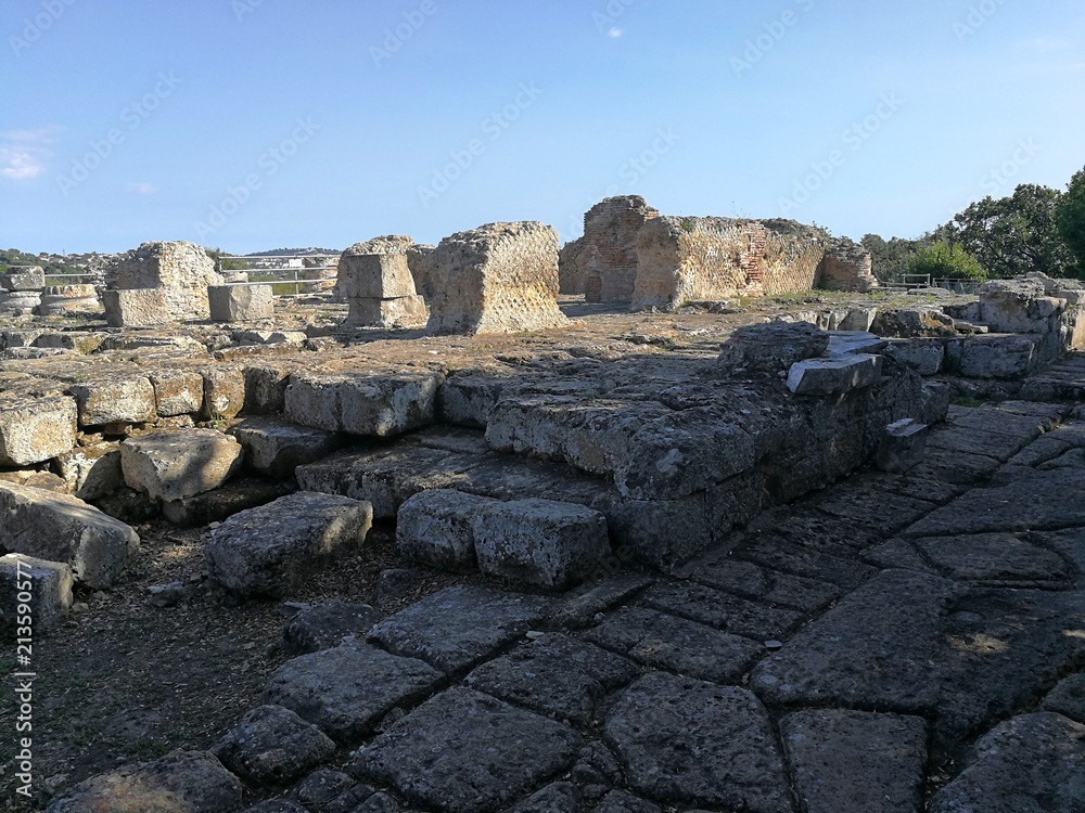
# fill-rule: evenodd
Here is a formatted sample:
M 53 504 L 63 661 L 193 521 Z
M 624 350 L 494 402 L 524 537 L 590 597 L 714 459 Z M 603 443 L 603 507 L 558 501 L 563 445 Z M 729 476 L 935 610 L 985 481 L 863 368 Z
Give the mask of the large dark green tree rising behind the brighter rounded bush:
M 1009 197 L 987 196 L 972 204 L 934 236 L 959 243 L 994 278 L 1030 271 L 1067 276 L 1075 262 L 1056 224 L 1060 197 L 1058 190 L 1023 183 Z

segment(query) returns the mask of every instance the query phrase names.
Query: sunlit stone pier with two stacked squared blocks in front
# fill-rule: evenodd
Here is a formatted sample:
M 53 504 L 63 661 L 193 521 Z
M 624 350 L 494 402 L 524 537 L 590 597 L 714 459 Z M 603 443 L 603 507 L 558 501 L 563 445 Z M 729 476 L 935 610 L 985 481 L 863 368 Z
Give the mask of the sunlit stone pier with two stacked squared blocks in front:
M 359 327 L 425 324 L 429 313 L 414 288 L 408 259 L 412 246 L 410 237 L 388 235 L 358 243 L 343 253 L 336 288 L 349 307 L 347 324 Z

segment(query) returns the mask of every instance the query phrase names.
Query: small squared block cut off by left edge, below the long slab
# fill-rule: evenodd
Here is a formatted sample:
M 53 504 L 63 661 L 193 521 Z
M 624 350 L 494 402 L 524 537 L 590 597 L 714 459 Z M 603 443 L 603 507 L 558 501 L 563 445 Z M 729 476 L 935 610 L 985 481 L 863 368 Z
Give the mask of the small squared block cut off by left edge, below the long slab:
M 18 553 L 0 557 L 0 633 L 33 638 L 54 628 L 72 606 L 72 584 L 67 565 Z

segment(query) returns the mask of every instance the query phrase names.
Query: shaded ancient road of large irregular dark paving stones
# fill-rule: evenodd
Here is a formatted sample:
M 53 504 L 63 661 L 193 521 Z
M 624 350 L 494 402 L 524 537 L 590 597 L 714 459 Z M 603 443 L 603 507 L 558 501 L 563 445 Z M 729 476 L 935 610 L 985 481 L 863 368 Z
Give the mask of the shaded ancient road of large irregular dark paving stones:
M 1085 811 L 1083 496 L 1070 406 L 954 408 L 674 576 L 445 590 L 272 678 L 252 811 Z

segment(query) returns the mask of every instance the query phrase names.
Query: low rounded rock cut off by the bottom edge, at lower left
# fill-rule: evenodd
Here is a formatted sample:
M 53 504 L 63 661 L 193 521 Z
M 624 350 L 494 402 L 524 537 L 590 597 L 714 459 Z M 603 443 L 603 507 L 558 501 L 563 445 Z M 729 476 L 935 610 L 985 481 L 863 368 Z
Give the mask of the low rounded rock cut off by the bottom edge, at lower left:
M 210 753 L 174 751 L 80 783 L 47 813 L 97 813 L 117 810 L 118 803 L 130 811 L 219 813 L 240 808 L 242 792 L 238 777 Z

